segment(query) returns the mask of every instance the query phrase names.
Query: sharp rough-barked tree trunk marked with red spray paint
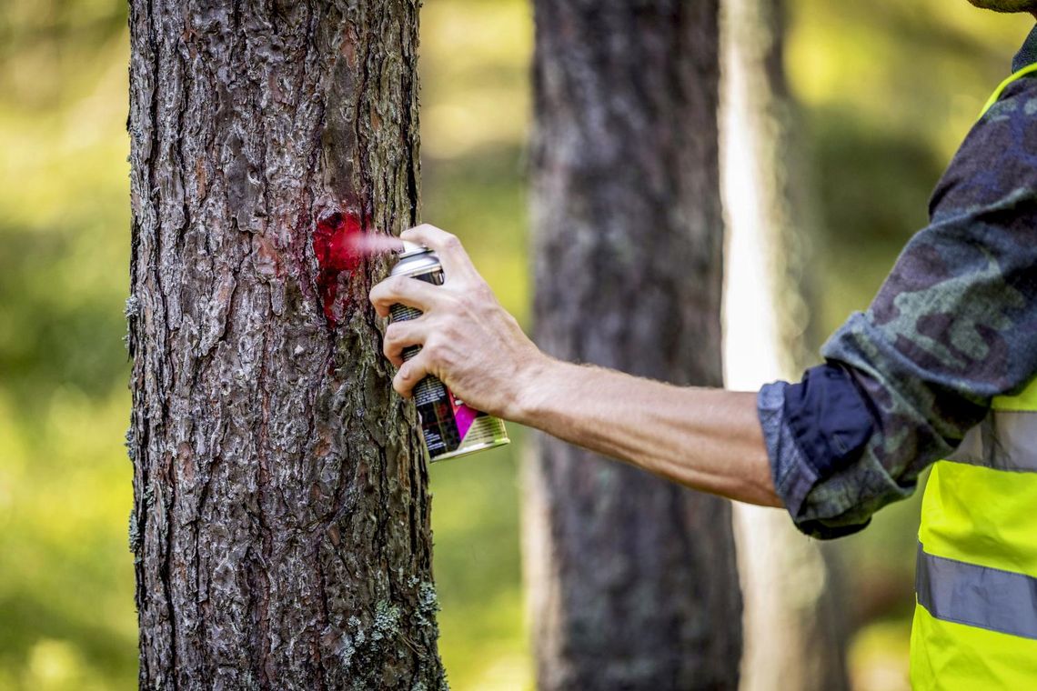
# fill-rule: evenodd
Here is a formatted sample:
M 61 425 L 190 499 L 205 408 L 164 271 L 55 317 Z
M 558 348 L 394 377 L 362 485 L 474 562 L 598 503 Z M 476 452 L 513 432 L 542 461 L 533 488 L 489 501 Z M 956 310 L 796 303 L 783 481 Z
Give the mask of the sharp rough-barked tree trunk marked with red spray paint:
M 416 0 L 131 2 L 141 688 L 435 689 L 426 467 L 343 234 L 417 220 Z

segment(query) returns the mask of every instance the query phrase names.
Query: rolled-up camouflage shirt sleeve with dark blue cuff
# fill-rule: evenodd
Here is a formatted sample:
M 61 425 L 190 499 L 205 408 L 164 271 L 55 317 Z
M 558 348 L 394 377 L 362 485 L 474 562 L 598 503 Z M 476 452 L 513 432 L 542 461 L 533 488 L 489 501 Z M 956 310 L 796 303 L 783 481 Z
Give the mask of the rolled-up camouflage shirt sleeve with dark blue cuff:
M 826 364 L 760 392 L 775 484 L 808 535 L 864 527 L 1037 375 L 1037 78 L 973 127 L 929 212 Z

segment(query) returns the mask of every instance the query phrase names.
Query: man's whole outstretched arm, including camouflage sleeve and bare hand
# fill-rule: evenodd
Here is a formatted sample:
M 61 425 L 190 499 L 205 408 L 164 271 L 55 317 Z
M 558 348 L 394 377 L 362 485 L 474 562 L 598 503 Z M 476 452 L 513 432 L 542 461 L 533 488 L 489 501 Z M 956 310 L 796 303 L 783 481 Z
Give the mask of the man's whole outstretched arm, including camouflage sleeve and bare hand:
M 1005 90 L 868 311 L 832 336 L 826 362 L 802 381 L 764 386 L 755 411 L 749 395 L 546 359 L 456 238 L 430 227 L 407 237 L 440 252 L 447 283 L 390 279 L 371 293 L 383 316 L 395 301 L 426 312 L 386 332 L 397 366 L 403 346 L 425 346 L 394 385 L 405 394 L 430 372 L 476 407 L 691 487 L 767 505 L 777 494 L 808 535 L 859 530 L 914 492 L 993 397 L 1037 377 L 1037 126 L 1026 107 L 1034 99 L 1037 77 Z

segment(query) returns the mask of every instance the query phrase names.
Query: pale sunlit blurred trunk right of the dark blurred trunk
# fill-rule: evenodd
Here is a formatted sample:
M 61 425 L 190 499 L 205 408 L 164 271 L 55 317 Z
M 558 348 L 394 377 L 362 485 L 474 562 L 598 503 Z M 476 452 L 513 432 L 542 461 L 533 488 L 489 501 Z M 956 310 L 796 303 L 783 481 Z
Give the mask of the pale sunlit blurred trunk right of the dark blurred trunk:
M 793 136 L 783 0 L 724 0 L 726 384 L 755 390 L 809 359 L 810 175 Z M 785 512 L 735 506 L 746 598 L 741 689 L 847 688 L 836 571 Z M 845 609 L 845 608 L 844 608 Z

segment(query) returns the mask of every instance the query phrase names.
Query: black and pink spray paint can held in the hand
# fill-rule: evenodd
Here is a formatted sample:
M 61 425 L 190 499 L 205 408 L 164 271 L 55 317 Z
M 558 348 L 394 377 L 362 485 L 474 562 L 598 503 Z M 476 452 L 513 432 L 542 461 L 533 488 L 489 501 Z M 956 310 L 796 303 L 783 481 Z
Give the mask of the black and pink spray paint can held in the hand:
M 392 276 L 409 276 L 437 286 L 443 285 L 446 278 L 435 252 L 407 241 L 403 242 L 399 262 L 393 267 Z M 421 316 L 420 310 L 399 303 L 393 305 L 389 312 L 390 322 Z M 403 359 L 411 359 L 420 350 L 421 346 L 404 348 Z M 433 462 L 501 447 L 510 441 L 503 421 L 465 405 L 464 401 L 431 375 L 414 387 L 414 402 L 418 408 L 425 448 Z

